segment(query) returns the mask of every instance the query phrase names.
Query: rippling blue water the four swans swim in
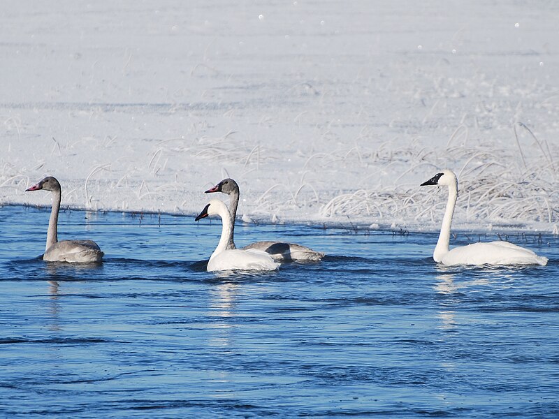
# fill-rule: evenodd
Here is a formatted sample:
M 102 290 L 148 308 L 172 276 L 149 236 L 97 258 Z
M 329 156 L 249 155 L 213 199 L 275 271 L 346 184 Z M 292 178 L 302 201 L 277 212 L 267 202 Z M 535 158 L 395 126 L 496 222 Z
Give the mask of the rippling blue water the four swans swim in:
M 0 208 L 2 416 L 559 416 L 557 237 L 509 237 L 546 267 L 444 269 L 434 234 L 241 224 L 328 256 L 223 277 L 217 221 L 64 212 L 93 266 L 38 260 L 47 223 Z

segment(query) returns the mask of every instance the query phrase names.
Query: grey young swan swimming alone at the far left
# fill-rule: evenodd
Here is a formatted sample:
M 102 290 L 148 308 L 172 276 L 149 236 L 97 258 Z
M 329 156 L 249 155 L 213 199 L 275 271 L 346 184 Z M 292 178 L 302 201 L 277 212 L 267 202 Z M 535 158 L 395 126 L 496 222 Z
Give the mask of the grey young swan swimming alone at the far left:
M 43 260 L 49 262 L 99 262 L 103 252 L 92 240 L 62 240 L 58 241 L 58 212 L 60 210 L 60 184 L 52 176 L 45 177 L 38 184 L 25 191 L 52 191 L 52 210 L 48 221 L 47 246 Z

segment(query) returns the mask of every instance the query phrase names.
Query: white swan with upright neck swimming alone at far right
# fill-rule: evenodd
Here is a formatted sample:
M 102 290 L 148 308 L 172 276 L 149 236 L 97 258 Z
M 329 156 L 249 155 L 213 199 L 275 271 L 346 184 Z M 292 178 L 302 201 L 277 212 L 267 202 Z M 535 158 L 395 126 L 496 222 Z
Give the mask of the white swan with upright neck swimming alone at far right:
M 449 187 L 447 210 L 444 212 L 441 233 L 433 252 L 435 262 L 443 265 L 546 265 L 547 258 L 509 242 L 474 243 L 449 250 L 452 216 L 458 198 L 458 180 L 451 170 L 442 170 L 421 184 L 426 185 Z

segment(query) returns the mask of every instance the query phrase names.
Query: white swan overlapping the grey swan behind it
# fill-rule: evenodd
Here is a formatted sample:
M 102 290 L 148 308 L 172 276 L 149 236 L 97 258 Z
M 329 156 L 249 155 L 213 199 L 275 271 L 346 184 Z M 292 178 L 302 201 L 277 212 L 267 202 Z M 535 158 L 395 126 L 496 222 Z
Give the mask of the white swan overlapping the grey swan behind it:
M 263 251 L 249 249 L 228 249 L 227 245 L 233 237 L 233 225 L 227 206 L 217 199 L 210 200 L 195 221 L 210 215 L 222 218 L 222 236 L 208 262 L 208 272 L 221 270 L 275 270 L 279 263 Z

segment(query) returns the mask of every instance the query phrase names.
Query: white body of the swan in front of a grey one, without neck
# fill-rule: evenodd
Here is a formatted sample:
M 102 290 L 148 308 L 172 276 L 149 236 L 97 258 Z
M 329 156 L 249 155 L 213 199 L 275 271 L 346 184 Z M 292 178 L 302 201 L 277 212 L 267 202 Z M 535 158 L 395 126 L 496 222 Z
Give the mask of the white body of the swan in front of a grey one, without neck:
M 276 270 L 279 263 L 258 250 L 229 249 L 213 253 L 208 272 L 219 270 Z

